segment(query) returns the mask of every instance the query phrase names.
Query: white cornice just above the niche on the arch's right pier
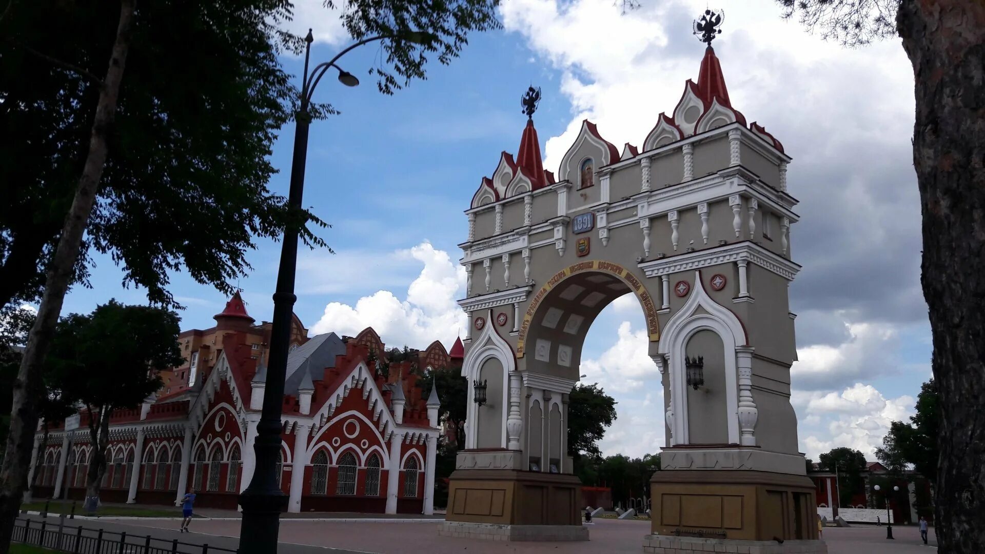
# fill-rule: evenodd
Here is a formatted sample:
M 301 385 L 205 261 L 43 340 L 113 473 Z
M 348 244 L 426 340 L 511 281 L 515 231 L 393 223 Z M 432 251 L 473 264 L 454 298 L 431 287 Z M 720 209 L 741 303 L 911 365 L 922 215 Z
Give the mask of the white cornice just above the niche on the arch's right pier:
M 706 250 L 645 261 L 639 264 L 639 268 L 647 277 L 659 277 L 741 259 L 749 260 L 788 281 L 793 281 L 801 269 L 800 265 L 763 248 L 755 242 L 736 242 Z

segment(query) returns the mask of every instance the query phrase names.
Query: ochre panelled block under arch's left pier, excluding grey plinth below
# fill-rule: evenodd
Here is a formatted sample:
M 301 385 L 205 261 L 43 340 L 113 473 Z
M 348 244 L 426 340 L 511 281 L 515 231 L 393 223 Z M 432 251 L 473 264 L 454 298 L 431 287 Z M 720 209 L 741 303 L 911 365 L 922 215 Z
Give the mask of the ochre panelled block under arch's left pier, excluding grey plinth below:
M 447 521 L 581 527 L 581 482 L 574 475 L 516 469 L 456 469 L 448 480 Z

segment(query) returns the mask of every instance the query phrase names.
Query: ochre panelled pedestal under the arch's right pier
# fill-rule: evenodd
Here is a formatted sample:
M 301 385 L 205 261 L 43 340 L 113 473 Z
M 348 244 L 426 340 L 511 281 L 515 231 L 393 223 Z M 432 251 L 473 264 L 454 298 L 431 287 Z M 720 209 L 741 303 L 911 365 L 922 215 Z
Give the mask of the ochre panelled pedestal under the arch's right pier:
M 800 541 L 807 540 L 823 548 L 823 542 L 817 540 L 814 483 L 803 475 L 664 470 L 650 478 L 650 492 L 651 538 L 771 541 L 774 546 L 780 546 L 781 541 L 798 541 L 802 546 Z

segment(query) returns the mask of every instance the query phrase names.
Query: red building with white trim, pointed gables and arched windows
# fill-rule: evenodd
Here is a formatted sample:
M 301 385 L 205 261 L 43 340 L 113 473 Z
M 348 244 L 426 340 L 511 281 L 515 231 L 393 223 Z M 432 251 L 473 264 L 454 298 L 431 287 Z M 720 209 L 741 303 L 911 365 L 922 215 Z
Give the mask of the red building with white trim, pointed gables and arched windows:
M 159 394 L 114 411 L 103 502 L 171 504 L 193 487 L 197 506 L 236 508 L 255 467 L 267 379 L 257 340 L 269 336 L 269 323 L 253 325 L 238 295 L 215 318 L 216 327 L 185 331 L 179 343 L 218 337 L 221 348 L 212 339 L 194 352 L 183 348 L 185 365 L 165 375 Z M 460 366 L 460 342 L 453 358 L 437 341 L 406 355 L 387 352 L 372 328 L 356 337 L 292 336 L 279 464 L 288 511 L 431 514 L 439 401 L 418 385 L 418 373 Z M 387 376 L 379 360 L 389 361 Z M 87 417 L 49 423 L 32 463 L 31 482 L 41 472 L 35 497 L 85 497 L 93 458 Z M 41 440 L 38 431 L 35 447 Z

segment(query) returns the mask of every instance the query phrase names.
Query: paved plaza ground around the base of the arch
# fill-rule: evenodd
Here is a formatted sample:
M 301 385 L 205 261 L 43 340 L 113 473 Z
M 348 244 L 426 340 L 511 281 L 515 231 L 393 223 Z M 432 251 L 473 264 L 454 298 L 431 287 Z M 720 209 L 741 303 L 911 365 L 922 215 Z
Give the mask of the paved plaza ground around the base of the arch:
M 55 521 L 56 519 L 49 519 Z M 158 538 L 178 538 L 188 543 L 235 548 L 238 543 L 237 519 L 195 519 L 192 532 L 176 532 L 177 519 L 76 519 L 70 524 L 92 528 L 124 530 L 132 535 L 151 534 Z M 354 522 L 319 519 L 283 519 L 281 548 L 285 554 L 499 554 L 564 552 L 570 554 L 608 554 L 641 551 L 643 535 L 650 529 L 644 520 L 596 519 L 591 540 L 585 542 L 488 542 L 437 535 L 436 522 Z M 916 526 L 893 527 L 895 540 L 886 540 L 886 527 L 863 525 L 827 527 L 824 541 L 829 554 L 917 554 L 935 552 L 924 546 Z M 937 543 L 934 529 L 931 545 Z

